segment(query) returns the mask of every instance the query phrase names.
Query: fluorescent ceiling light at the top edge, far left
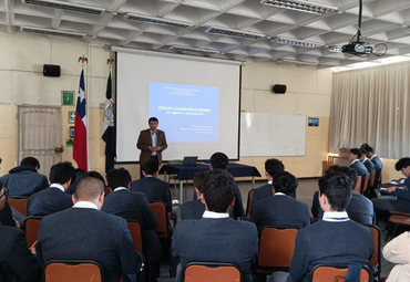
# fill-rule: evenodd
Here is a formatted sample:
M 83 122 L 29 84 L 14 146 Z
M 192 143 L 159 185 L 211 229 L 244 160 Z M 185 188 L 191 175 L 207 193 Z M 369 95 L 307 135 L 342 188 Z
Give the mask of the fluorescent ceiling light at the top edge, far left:
M 63 1 L 53 1 L 53 0 L 21 0 L 24 4 L 40 6 L 47 8 L 61 9 L 72 12 L 88 13 L 88 14 L 101 14 L 105 11 L 103 8 L 70 3 Z

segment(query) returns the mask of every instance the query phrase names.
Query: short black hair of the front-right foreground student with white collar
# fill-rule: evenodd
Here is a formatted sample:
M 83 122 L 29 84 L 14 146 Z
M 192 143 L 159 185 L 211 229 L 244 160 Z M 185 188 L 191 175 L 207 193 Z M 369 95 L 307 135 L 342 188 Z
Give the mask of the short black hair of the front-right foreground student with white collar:
M 330 173 L 319 179 L 319 192 L 325 195 L 335 211 L 346 210 L 351 198 L 351 179 L 342 173 Z

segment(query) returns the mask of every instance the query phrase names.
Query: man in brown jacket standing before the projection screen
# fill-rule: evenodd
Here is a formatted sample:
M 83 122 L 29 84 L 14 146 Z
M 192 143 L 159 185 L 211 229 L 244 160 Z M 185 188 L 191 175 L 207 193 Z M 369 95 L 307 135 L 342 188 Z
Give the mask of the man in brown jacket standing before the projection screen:
M 140 133 L 136 147 L 141 149 L 140 154 L 140 174 L 143 178 L 143 166 L 148 159 L 156 159 L 160 163 L 162 161 L 162 152 L 168 146 L 166 144 L 165 133 L 157 129 L 158 119 L 156 117 L 150 117 L 148 119 L 148 129 L 142 130 Z

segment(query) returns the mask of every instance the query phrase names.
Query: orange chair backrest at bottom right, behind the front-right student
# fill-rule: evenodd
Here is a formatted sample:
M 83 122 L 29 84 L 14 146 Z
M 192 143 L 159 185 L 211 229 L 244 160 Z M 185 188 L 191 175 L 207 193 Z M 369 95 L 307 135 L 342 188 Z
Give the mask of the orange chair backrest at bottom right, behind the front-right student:
M 311 270 L 309 281 L 311 282 L 345 282 L 348 265 L 316 265 Z M 359 282 L 372 282 L 370 269 L 361 267 Z

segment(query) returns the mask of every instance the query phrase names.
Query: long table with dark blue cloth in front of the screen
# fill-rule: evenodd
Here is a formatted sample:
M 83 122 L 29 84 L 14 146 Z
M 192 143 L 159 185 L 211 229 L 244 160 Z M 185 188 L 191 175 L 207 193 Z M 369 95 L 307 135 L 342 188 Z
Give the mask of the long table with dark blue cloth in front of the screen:
M 183 165 L 164 165 L 160 174 L 164 174 L 164 181 L 166 181 L 166 174 L 177 175 L 180 180 L 181 190 L 181 205 L 183 203 L 184 197 L 184 184 L 183 180 L 192 180 L 194 176 L 199 171 L 208 171 L 209 164 L 201 164 L 196 166 L 183 166 Z M 233 177 L 245 177 L 252 176 L 252 188 L 255 189 L 255 176 L 260 177 L 259 171 L 256 167 L 239 165 L 239 164 L 228 164 L 228 173 Z

